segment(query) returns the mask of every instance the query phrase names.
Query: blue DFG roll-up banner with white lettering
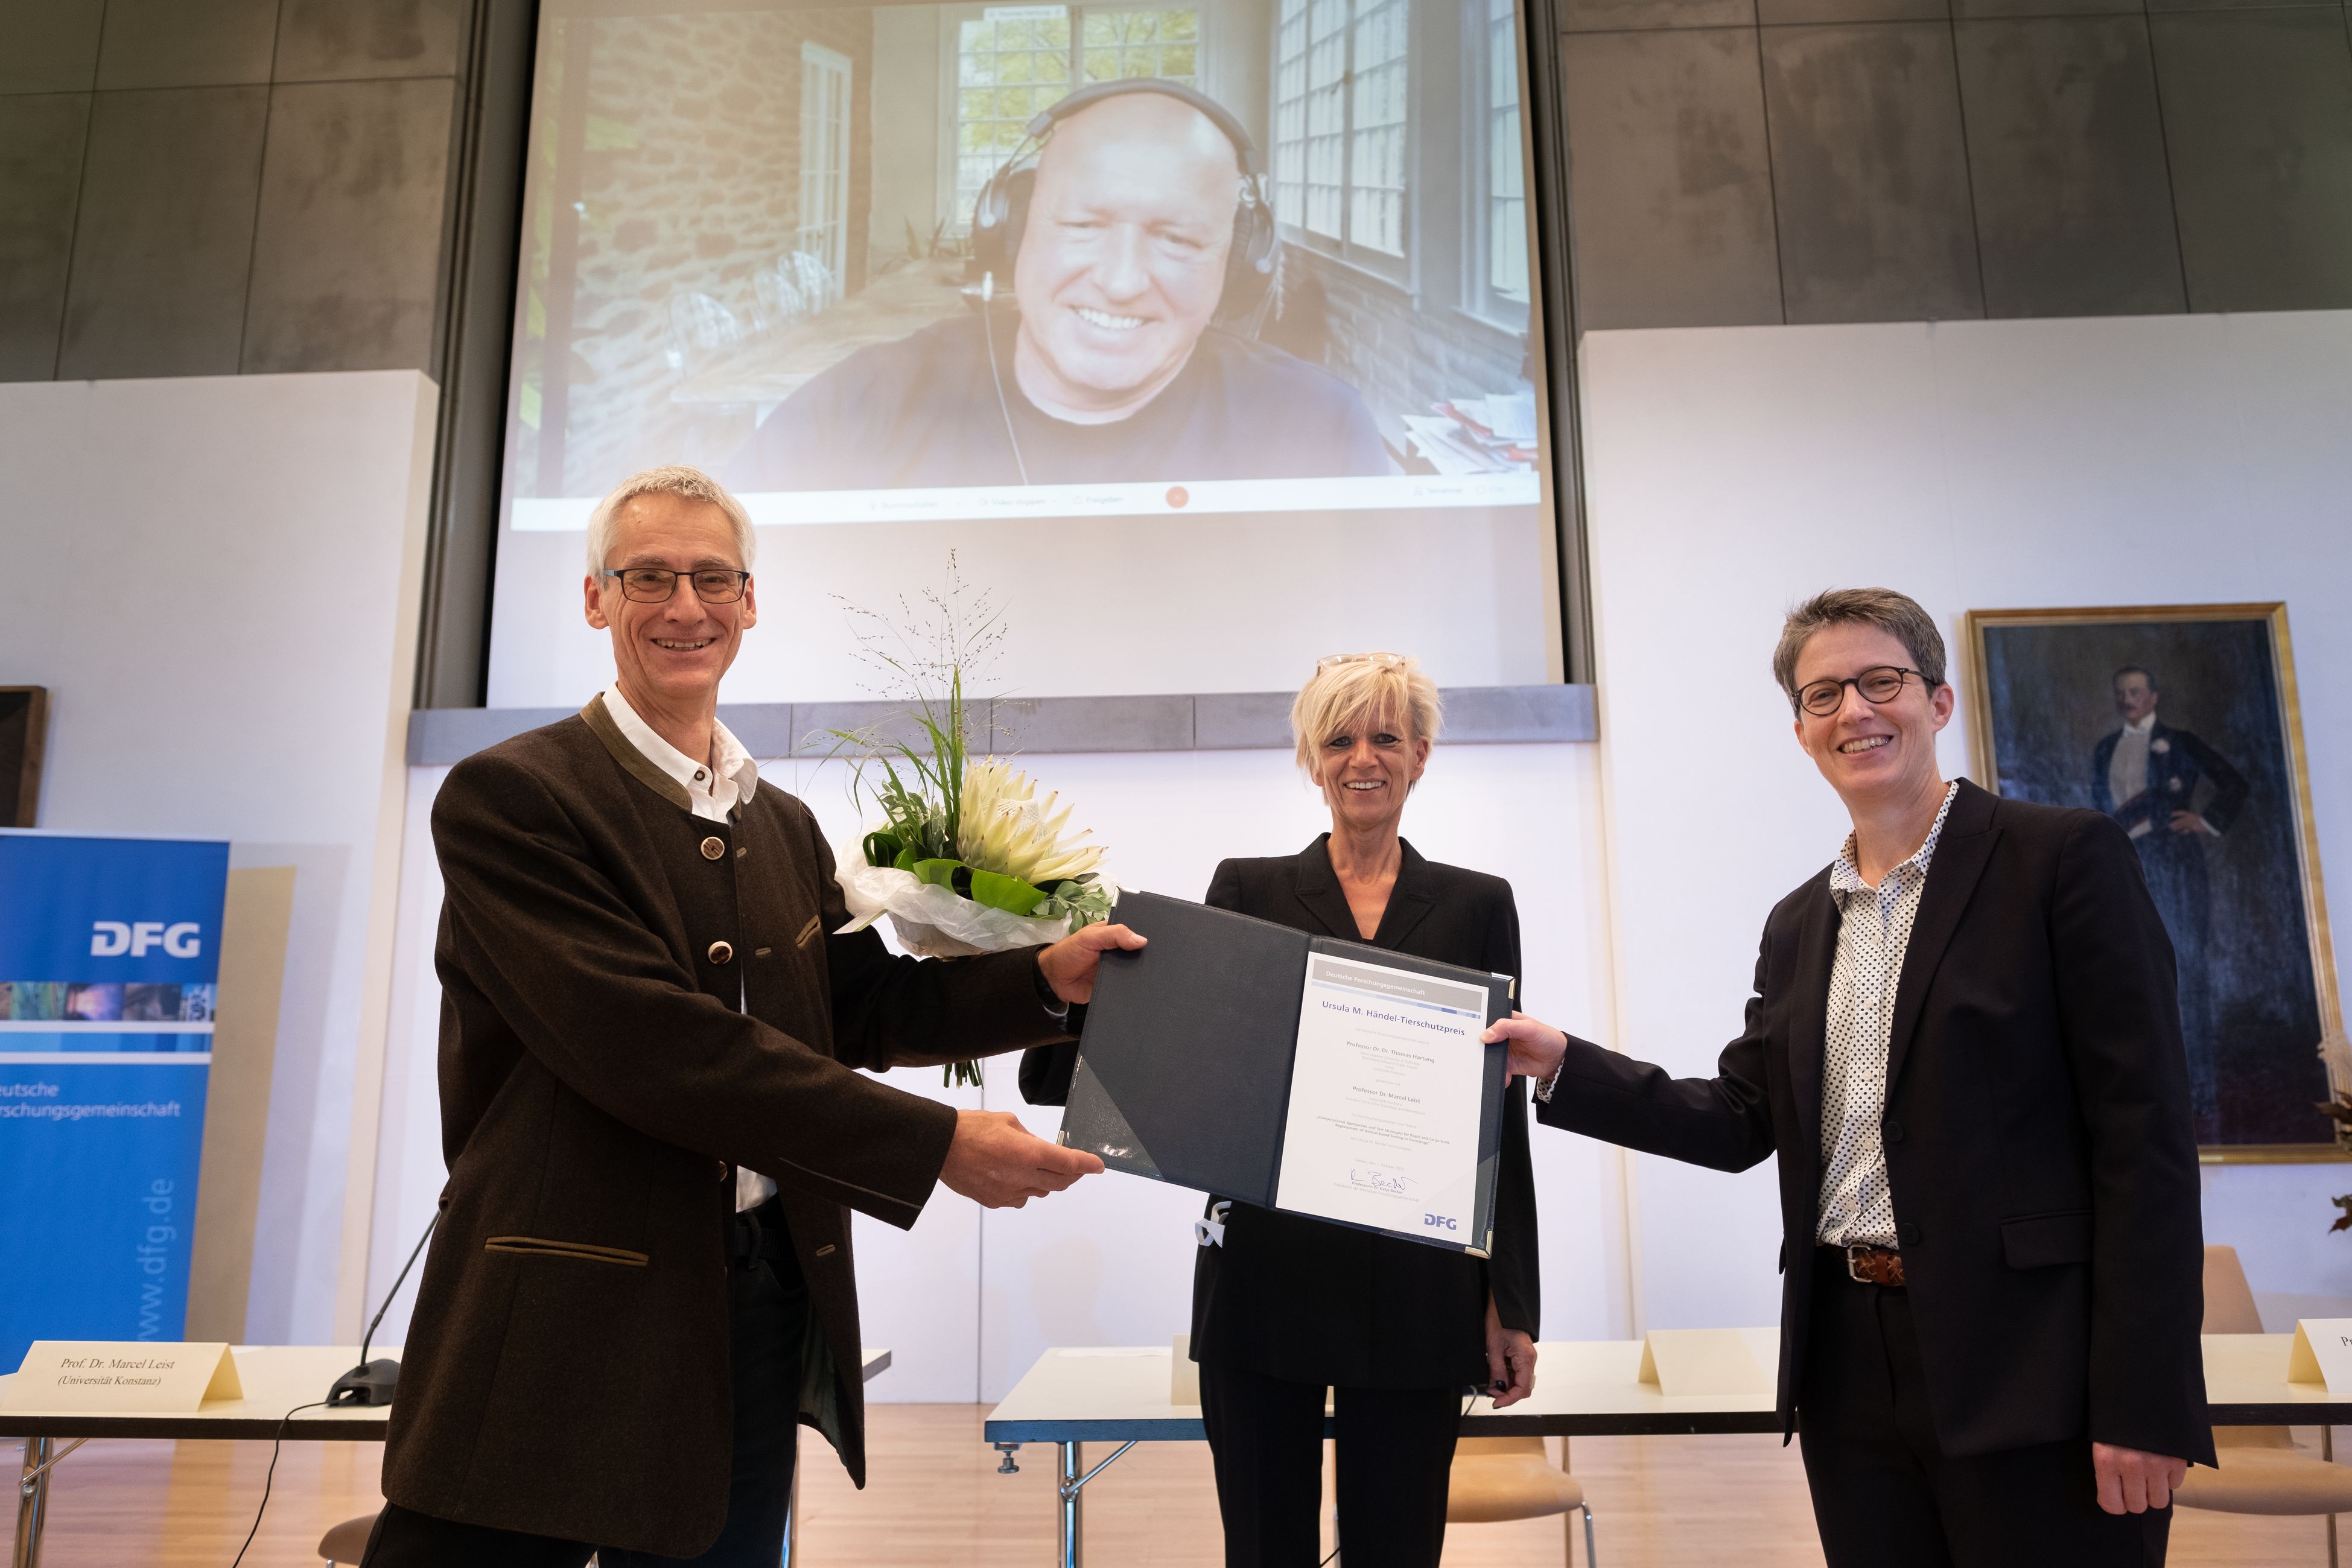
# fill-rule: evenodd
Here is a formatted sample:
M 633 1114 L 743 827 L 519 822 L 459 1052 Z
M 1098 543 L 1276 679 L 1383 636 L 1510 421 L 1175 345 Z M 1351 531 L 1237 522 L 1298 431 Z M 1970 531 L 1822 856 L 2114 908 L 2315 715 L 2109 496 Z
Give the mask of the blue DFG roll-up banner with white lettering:
M 228 844 L 0 832 L 0 1371 L 179 1340 Z

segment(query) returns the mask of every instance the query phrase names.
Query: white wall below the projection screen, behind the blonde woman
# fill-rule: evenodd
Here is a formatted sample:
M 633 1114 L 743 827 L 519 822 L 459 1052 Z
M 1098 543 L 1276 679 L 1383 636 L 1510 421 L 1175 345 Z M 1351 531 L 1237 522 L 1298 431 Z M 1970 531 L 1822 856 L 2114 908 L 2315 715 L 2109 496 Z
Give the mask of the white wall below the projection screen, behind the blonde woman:
M 757 632 L 753 632 L 757 635 Z M 1439 745 L 1406 806 L 1425 856 L 1510 877 L 1519 896 L 1526 994 L 1585 1032 L 1609 1030 L 1599 813 L 1590 745 Z M 1112 849 L 1127 886 L 1200 898 L 1225 856 L 1296 853 L 1329 825 L 1287 752 L 1054 755 L 1025 766 L 1077 802 Z M 816 811 L 835 839 L 856 827 L 847 766 L 764 762 L 762 773 Z M 426 816 L 440 769 L 416 769 L 402 882 L 395 1030 L 376 1173 L 369 1295 L 390 1286 L 442 1182 L 433 1103 L 433 919 Z M 938 1070 L 898 1070 L 901 1088 L 953 1105 L 1011 1110 L 1051 1135 L 1061 1112 L 1021 1103 L 1018 1058 L 988 1065 L 985 1091 L 946 1091 Z M 397 1117 L 397 1124 L 395 1124 Z M 1536 1133 L 1543 1211 L 1545 1331 L 1606 1338 L 1630 1328 L 1618 1161 Z M 1157 1345 L 1183 1333 L 1192 1300 L 1192 1215 L 1202 1199 L 1129 1175 L 1101 1175 L 1018 1211 L 983 1213 L 936 1192 L 913 1232 L 858 1218 L 858 1300 L 868 1345 L 891 1347 L 889 1401 L 997 1399 L 1047 1345 Z M 386 1319 L 407 1324 L 407 1298 Z

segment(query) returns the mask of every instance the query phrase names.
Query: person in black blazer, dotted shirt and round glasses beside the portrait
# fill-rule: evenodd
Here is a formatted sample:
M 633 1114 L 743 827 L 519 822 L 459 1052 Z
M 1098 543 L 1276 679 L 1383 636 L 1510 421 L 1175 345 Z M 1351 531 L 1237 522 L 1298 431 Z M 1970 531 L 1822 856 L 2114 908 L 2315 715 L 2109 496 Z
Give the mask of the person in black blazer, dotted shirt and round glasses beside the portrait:
M 1830 1568 L 2161 1563 L 2213 1436 L 2173 950 L 2131 839 L 1943 778 L 1943 637 L 1898 592 L 1792 609 L 1773 677 L 1853 832 L 1764 922 L 1715 1077 L 1524 1016 L 1489 1039 L 1550 1126 L 1778 1154 L 1780 1420 Z

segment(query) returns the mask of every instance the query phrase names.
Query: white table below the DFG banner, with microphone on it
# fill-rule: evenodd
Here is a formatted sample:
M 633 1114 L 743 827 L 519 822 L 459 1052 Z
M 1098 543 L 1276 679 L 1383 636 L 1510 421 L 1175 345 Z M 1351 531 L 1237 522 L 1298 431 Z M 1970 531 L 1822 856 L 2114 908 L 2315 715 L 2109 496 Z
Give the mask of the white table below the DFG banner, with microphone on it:
M 16 1476 L 16 1544 L 12 1568 L 38 1568 L 40 1535 L 49 1514 L 49 1472 L 68 1453 L 99 1436 L 136 1439 L 242 1439 L 270 1441 L 282 1434 L 299 1443 L 381 1443 L 393 1420 L 390 1406 L 334 1406 L 287 1410 L 325 1399 L 336 1378 L 358 1359 L 358 1345 L 238 1345 L 238 1382 L 245 1399 L 214 1399 L 195 1415 L 87 1415 L 0 1410 L 0 1439 L 24 1439 L 24 1469 Z M 372 1356 L 400 1359 L 400 1349 L 376 1345 Z M 887 1349 L 866 1352 L 866 1382 L 889 1368 Z M 14 1373 L 0 1375 L 0 1403 Z M 795 1469 L 795 1483 L 797 1483 Z M 797 1486 L 795 1486 L 797 1490 Z

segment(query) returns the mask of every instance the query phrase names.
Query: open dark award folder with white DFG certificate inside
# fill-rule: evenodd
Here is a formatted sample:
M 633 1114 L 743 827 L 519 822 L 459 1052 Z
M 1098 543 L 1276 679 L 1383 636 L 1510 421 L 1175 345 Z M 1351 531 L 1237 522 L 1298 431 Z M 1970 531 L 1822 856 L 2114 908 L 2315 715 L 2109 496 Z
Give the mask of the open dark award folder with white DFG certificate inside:
M 1157 893 L 1117 919 L 1061 1143 L 1112 1171 L 1484 1258 L 1515 980 Z

